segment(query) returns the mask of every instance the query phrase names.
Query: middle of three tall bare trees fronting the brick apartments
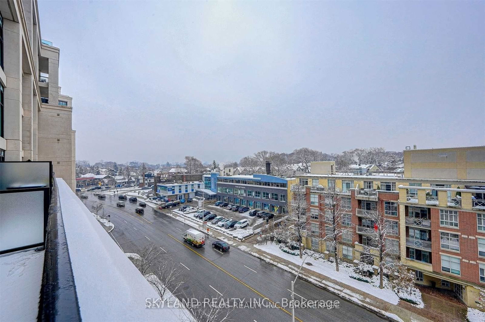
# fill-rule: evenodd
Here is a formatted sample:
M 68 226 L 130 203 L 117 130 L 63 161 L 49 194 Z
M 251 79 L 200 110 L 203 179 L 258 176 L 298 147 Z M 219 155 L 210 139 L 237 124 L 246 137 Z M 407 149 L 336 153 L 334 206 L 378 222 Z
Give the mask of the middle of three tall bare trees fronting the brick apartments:
M 324 194 L 325 200 L 325 242 L 334 251 L 335 270 L 339 272 L 339 252 L 338 243 L 341 236 L 348 231 L 351 225 L 352 214 L 346 213 L 346 207 L 342 205 L 342 194 L 339 189 L 334 186 L 328 187 Z

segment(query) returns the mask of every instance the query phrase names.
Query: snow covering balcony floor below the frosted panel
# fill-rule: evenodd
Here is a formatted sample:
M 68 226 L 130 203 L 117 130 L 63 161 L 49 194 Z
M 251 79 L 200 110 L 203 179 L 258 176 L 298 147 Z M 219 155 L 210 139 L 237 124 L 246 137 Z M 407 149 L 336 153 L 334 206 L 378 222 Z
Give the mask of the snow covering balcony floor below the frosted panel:
M 0 321 L 36 321 L 44 251 L 0 257 Z

